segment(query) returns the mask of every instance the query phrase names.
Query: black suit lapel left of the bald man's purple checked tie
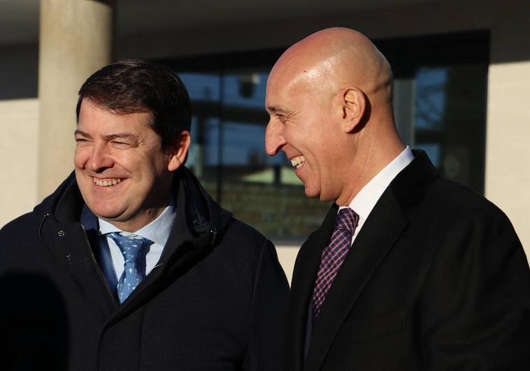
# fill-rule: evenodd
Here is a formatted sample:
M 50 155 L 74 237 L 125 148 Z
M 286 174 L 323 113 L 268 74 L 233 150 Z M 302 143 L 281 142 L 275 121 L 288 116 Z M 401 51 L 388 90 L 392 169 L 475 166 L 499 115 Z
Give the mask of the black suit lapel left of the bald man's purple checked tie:
M 320 265 L 320 254 L 331 238 L 337 210 L 337 205 L 331 206 L 322 226 L 311 233 L 296 257 L 291 284 L 289 318 L 287 319 L 285 370 L 299 371 L 303 369 L 303 346 L 306 338 L 309 300 L 313 293 L 315 277 Z

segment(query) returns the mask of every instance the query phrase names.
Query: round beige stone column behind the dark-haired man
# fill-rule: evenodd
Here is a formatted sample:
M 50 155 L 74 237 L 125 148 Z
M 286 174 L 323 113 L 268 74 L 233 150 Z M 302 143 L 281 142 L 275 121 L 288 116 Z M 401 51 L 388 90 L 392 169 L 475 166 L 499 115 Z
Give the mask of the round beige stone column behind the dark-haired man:
M 110 63 L 113 1 L 41 0 L 38 200 L 73 170 L 78 90 Z

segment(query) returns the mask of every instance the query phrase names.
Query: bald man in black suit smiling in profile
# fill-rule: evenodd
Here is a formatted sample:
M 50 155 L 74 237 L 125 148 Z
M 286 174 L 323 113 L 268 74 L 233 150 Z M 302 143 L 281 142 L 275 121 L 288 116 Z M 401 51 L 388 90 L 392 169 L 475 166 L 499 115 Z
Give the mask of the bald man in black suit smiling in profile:
M 334 201 L 294 266 L 285 371 L 530 370 L 530 274 L 495 205 L 401 142 L 392 71 L 325 29 L 267 82 L 266 151 Z

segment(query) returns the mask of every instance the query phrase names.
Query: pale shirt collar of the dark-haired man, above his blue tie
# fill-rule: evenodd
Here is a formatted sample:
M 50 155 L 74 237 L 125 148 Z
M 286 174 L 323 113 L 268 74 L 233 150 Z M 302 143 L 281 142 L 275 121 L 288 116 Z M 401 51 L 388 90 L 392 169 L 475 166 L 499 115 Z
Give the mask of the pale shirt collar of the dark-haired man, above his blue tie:
M 177 208 L 173 199 L 169 203 L 168 207 L 164 209 L 157 219 L 153 220 L 147 226 L 143 226 L 134 232 L 135 235 L 140 235 L 143 238 L 148 238 L 157 245 L 164 246 L 171 233 L 171 227 L 177 214 Z M 120 228 L 113 226 L 108 221 L 98 218 L 99 221 L 99 232 L 102 235 L 111 232 L 122 232 Z

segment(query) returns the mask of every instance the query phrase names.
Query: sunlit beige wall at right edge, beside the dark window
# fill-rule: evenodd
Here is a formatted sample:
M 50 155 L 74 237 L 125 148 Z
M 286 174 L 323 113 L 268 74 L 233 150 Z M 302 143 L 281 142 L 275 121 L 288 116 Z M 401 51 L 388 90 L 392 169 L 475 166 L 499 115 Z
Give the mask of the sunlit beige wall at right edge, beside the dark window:
M 527 257 L 530 257 L 529 83 L 530 61 L 489 66 L 485 193 L 512 221 Z

